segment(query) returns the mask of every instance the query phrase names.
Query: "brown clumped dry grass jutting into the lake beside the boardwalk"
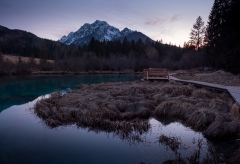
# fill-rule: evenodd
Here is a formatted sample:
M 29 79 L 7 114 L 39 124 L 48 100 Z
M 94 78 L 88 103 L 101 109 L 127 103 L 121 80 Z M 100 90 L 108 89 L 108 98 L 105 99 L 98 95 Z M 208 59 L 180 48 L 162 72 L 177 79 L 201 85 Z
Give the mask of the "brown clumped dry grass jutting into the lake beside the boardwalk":
M 232 137 L 239 133 L 236 111 L 225 93 L 176 82 L 141 81 L 82 85 L 65 95 L 54 93 L 35 106 L 35 113 L 50 127 L 77 124 L 123 137 L 146 132 L 150 117 L 181 121 L 208 138 Z

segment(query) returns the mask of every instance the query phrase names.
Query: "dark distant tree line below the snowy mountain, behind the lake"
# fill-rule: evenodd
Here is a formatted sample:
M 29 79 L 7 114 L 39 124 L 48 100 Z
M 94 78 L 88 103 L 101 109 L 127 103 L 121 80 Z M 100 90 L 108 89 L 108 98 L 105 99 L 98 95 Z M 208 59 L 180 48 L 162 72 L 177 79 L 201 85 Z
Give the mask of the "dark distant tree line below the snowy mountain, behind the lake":
M 18 54 L 17 49 L 13 53 Z M 46 54 L 48 53 L 50 52 L 46 51 Z M 54 58 L 42 58 L 40 64 L 36 64 L 32 56 L 30 56 L 32 60 L 27 63 L 18 62 L 15 67 L 10 61 L 5 62 L 5 66 L 2 66 L 5 71 L 2 74 L 16 71 L 25 74 L 37 70 L 73 72 L 133 70 L 138 72 L 149 67 L 189 69 L 202 66 L 204 63 L 202 52 L 197 52 L 190 47 L 181 48 L 163 44 L 159 41 L 146 41 L 144 43 L 140 39 L 137 42 L 130 42 L 127 39 L 122 42 L 100 42 L 92 38 L 89 45 L 83 47 L 63 46 L 60 47 L 59 53 L 63 53 L 63 55 L 60 57 L 56 55 Z M 48 63 L 46 59 L 54 59 L 55 62 Z

